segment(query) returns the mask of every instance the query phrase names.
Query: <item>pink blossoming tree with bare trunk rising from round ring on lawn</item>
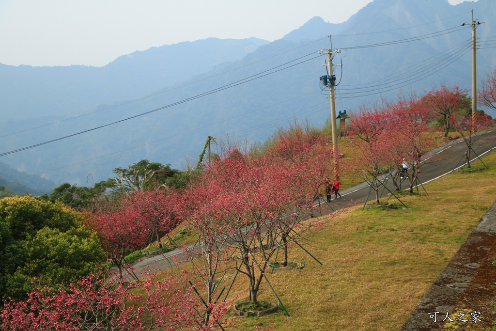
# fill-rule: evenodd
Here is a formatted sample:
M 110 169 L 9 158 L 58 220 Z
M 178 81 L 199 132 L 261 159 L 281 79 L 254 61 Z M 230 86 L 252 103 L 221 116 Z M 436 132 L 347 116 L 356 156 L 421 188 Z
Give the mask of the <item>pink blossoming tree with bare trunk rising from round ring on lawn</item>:
M 231 146 L 218 153 L 219 158 L 213 160 L 202 175 L 211 191 L 201 198 L 203 204 L 193 220 L 196 227 L 201 228 L 202 238 L 216 243 L 216 247 L 223 243 L 226 251 L 237 252 L 235 268 L 247 276 L 253 303 L 258 300 L 265 269 L 277 249 L 301 240 L 296 234 L 310 233 L 316 224 L 316 221 L 305 224 L 302 221 L 310 218 L 318 188 L 316 183 L 321 179 L 316 179 L 318 171 L 309 171 L 309 164 L 314 160 L 297 157 L 298 154 L 310 155 L 311 151 L 302 149 L 295 153 L 298 148 L 291 146 L 293 152 L 283 153 L 284 159 L 242 152 Z M 329 148 L 320 149 L 330 152 Z M 291 235 L 291 231 L 295 235 Z M 209 247 L 208 244 L 205 247 Z M 209 253 L 204 253 L 207 257 L 215 251 L 209 249 Z M 215 256 L 222 254 L 215 251 Z

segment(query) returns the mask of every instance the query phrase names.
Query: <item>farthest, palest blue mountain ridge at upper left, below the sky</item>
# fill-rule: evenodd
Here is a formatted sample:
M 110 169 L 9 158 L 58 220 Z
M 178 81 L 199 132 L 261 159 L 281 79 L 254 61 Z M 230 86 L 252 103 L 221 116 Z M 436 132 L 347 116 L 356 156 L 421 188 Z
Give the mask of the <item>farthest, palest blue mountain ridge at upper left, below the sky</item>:
M 100 104 L 131 100 L 177 84 L 225 62 L 239 61 L 267 41 L 209 38 L 153 47 L 107 66 L 0 64 L 0 109 L 6 119 L 73 116 Z M 4 110 L 15 109 L 15 112 Z

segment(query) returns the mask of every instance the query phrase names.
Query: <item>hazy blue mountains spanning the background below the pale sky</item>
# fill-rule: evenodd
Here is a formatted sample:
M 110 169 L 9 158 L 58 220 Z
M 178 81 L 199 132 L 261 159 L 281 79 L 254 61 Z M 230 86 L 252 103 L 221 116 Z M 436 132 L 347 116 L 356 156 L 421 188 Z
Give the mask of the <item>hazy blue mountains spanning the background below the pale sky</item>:
M 143 158 L 178 169 L 185 157 L 195 164 L 208 135 L 257 142 L 294 119 L 321 126 L 330 110 L 319 87 L 327 57 L 317 51 L 330 47 L 328 35 L 341 49 L 333 60 L 342 63 L 334 67 L 337 111 L 434 84 L 471 89 L 470 10 L 485 22 L 477 28 L 481 81 L 496 66 L 495 2 L 374 0 L 344 23 L 314 17 L 271 43 L 209 38 L 134 52 L 103 67 L 0 65 L 0 153 L 150 112 L 0 162 L 54 186 L 92 185 Z M 383 45 L 392 41 L 401 42 Z

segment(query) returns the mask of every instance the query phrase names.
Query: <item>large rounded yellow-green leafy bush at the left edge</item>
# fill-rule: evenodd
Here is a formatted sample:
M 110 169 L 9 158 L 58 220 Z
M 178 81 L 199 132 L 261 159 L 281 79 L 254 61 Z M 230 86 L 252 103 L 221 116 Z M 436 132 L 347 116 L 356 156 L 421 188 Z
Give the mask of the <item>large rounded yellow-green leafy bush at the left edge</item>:
M 36 279 L 58 288 L 101 263 L 99 240 L 81 220 L 60 202 L 0 199 L 0 296 L 22 298 Z

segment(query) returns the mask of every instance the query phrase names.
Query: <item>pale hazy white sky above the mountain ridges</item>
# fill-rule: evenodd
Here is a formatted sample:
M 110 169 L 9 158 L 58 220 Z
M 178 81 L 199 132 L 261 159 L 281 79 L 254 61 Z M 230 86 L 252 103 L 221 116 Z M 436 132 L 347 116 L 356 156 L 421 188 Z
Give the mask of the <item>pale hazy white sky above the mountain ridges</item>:
M 134 51 L 208 37 L 273 41 L 314 16 L 344 22 L 369 2 L 0 0 L 0 63 L 104 66 Z

